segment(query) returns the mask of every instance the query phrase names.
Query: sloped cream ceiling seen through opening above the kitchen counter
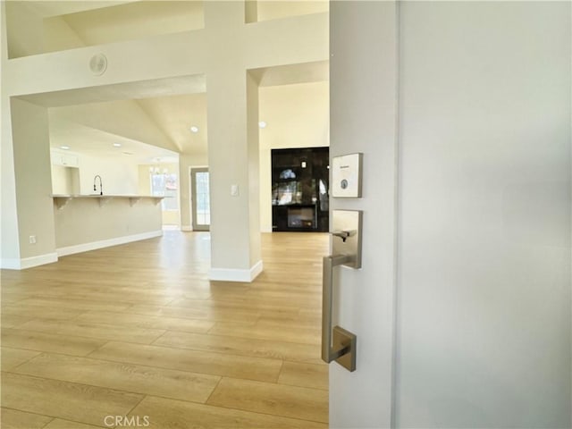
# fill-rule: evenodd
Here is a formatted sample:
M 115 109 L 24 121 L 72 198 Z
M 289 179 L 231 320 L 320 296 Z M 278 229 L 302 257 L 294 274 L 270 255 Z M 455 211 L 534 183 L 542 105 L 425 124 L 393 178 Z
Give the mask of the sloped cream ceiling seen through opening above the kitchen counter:
M 98 148 L 117 153 L 112 144 L 119 142 L 147 161 L 176 153 L 206 155 L 206 93 L 54 107 L 50 142 L 89 154 Z

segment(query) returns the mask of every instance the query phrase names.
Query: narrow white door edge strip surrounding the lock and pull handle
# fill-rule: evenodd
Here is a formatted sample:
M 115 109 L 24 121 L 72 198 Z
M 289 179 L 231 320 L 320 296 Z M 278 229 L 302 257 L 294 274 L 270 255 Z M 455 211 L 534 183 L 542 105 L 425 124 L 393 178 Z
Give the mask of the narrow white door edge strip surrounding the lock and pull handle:
M 357 370 L 349 373 L 330 364 L 330 425 L 390 427 L 396 220 L 395 5 L 330 2 L 330 16 L 330 156 L 364 154 L 363 198 L 331 198 L 332 209 L 364 213 L 362 268 L 333 270 L 333 324 L 357 334 Z

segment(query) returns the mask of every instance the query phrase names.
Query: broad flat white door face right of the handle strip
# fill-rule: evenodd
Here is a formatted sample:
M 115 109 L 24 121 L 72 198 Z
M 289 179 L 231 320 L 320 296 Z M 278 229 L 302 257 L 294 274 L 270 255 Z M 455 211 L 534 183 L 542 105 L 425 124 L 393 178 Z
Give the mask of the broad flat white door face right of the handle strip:
M 399 427 L 570 427 L 570 3 L 402 3 Z

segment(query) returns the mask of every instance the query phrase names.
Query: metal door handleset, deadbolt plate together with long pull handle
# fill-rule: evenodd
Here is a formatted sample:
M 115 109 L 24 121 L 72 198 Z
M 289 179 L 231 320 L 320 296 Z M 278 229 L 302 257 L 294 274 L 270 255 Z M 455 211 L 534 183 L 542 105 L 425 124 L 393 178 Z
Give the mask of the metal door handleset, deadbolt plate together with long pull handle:
M 332 328 L 333 273 L 338 265 L 361 268 L 361 220 L 358 210 L 332 211 L 332 255 L 324 257 L 322 277 L 322 359 L 356 370 L 357 336 L 340 326 Z

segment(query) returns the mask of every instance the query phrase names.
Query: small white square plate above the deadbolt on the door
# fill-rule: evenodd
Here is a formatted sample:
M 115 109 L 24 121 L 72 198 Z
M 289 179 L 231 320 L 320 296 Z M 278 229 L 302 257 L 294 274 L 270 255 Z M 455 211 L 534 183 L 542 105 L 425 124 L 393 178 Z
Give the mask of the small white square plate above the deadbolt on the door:
M 363 154 L 334 156 L 332 159 L 332 197 L 361 198 Z

